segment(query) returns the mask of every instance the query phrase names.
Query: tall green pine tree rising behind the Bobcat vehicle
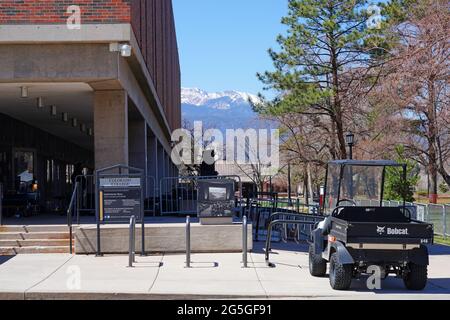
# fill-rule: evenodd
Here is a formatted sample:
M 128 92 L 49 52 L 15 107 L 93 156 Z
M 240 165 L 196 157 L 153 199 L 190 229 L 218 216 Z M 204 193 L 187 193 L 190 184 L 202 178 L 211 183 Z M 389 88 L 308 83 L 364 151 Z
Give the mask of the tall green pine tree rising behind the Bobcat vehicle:
M 347 158 L 345 133 L 357 112 L 352 101 L 376 82 L 371 71 L 386 45 L 385 23 L 371 14 L 366 0 L 289 0 L 287 33 L 278 36 L 278 51 L 269 50 L 275 71 L 258 74 L 277 97 L 255 110 L 302 117 L 321 131 L 331 158 Z

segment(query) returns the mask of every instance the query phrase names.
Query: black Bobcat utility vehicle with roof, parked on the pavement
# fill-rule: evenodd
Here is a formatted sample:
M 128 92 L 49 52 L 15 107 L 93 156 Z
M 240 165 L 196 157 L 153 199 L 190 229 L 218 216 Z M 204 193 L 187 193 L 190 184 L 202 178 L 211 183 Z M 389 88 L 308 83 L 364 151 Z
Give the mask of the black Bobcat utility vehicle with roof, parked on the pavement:
M 328 164 L 323 213 L 326 219 L 311 233 L 309 270 L 329 278 L 335 290 L 348 290 L 352 279 L 377 266 L 382 279 L 394 274 L 409 290 L 427 284 L 426 245 L 433 243 L 433 225 L 414 220 L 405 200 L 383 206 L 387 174 L 401 174 L 406 165 L 394 161 L 340 160 Z

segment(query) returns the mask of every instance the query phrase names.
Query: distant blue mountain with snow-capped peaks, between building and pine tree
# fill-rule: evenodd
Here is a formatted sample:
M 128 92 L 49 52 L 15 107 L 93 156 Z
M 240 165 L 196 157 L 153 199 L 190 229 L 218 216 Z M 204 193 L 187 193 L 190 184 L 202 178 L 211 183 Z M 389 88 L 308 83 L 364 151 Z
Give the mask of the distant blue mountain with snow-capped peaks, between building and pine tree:
M 190 123 L 203 121 L 205 126 L 220 130 L 266 127 L 253 112 L 249 101 L 258 102 L 259 98 L 239 91 L 181 90 L 183 119 Z

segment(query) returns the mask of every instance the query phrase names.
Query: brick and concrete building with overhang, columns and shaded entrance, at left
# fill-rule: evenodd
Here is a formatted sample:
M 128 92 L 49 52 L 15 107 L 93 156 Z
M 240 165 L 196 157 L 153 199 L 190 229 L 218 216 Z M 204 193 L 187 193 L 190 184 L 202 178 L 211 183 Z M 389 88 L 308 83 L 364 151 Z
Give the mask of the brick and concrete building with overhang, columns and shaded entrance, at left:
M 81 169 L 176 176 L 180 91 L 170 0 L 2 0 L 4 203 L 32 197 L 41 210 L 62 208 Z

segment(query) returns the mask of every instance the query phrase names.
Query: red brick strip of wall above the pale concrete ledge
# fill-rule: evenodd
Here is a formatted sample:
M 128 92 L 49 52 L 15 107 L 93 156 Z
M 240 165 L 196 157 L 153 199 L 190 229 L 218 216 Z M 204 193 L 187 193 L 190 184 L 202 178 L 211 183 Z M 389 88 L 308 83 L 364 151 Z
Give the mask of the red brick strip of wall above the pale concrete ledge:
M 64 24 L 78 5 L 81 23 L 129 23 L 131 0 L 0 0 L 0 24 Z

